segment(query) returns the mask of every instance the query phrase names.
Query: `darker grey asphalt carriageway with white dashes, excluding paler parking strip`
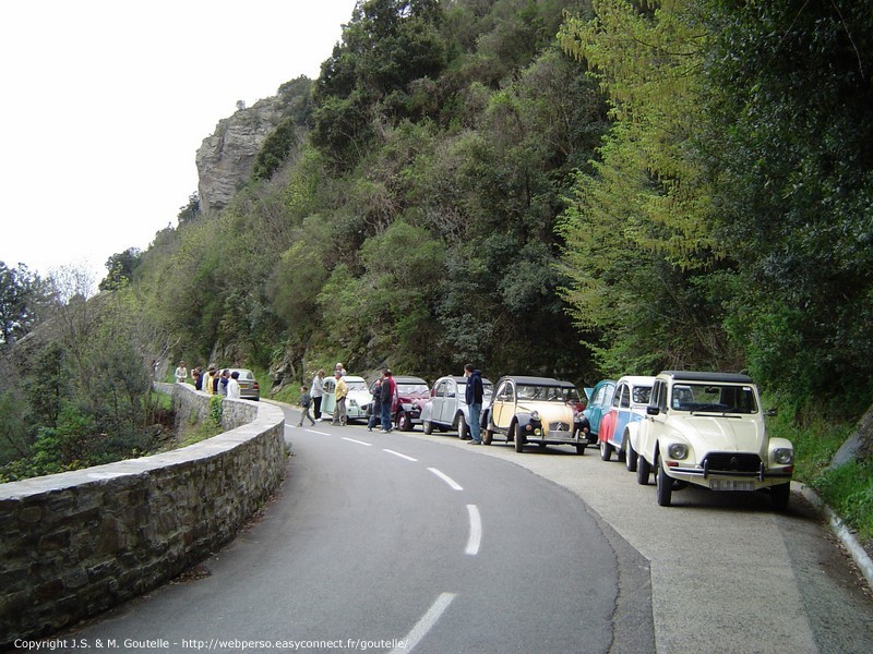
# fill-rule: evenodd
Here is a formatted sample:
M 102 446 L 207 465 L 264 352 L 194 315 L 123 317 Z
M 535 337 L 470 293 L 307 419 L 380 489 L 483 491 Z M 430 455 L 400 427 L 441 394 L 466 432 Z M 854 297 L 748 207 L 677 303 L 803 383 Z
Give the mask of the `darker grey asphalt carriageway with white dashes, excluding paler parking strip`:
M 566 488 L 440 439 L 327 423 L 288 426 L 286 439 L 285 484 L 256 523 L 183 581 L 64 638 L 163 652 L 598 653 L 619 623 L 618 638 L 653 651 L 649 603 L 620 597 L 620 568 L 647 584 L 645 560 Z

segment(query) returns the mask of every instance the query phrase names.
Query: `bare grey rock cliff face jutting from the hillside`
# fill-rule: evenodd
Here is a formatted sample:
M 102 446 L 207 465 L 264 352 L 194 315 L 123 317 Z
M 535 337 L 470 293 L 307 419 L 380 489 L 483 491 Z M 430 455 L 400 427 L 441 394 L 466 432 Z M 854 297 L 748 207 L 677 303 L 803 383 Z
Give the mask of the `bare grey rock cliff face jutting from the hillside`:
M 264 138 L 282 119 L 282 100 L 272 97 L 218 121 L 215 133 L 203 140 L 196 154 L 198 192 L 204 213 L 227 206 L 251 175 Z

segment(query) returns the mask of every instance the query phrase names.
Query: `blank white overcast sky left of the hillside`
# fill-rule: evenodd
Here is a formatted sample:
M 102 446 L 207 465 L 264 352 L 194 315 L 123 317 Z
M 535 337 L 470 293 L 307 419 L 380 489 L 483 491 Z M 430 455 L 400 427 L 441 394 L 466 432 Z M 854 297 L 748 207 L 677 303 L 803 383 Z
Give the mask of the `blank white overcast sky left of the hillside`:
M 216 124 L 316 78 L 355 0 L 0 2 L 0 262 L 45 277 L 145 250 Z

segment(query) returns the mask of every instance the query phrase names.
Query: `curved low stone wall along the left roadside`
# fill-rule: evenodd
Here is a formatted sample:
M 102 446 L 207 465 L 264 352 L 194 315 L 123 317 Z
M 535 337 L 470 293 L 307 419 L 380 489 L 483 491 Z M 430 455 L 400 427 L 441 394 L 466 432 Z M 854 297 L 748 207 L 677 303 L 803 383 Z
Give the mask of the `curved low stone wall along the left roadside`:
M 208 414 L 190 385 L 180 420 Z M 278 407 L 225 400 L 230 431 L 183 449 L 0 484 L 0 649 L 172 579 L 234 537 L 285 472 Z

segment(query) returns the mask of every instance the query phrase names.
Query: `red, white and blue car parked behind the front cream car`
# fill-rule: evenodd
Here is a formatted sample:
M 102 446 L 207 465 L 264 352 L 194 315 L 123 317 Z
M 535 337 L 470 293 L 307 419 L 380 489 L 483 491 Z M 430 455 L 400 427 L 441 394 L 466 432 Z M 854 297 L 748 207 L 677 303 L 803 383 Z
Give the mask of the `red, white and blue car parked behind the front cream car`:
M 619 379 L 609 413 L 600 421 L 597 434 L 603 461 L 609 461 L 615 451 L 619 460 L 624 460 L 627 470 L 636 471 L 636 428 L 646 416 L 654 383 L 655 377 L 632 375 Z

